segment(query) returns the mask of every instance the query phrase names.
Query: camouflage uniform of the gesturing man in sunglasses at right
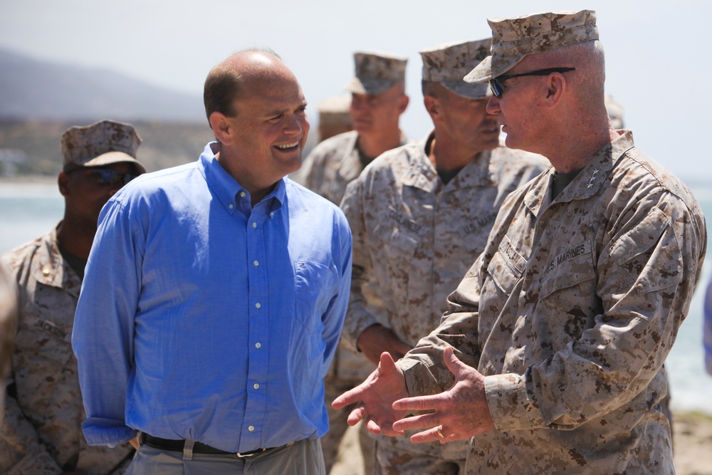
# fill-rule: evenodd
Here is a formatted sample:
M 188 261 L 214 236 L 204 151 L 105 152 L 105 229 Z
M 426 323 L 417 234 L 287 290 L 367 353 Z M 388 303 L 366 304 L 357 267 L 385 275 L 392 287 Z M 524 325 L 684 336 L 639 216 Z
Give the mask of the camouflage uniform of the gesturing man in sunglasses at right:
M 662 365 L 705 219 L 620 133 L 553 202 L 553 169 L 508 197 L 443 322 L 398 363 L 412 395 L 452 384 L 445 345 L 485 375 L 496 430 L 471 439 L 467 474 L 674 473 Z

